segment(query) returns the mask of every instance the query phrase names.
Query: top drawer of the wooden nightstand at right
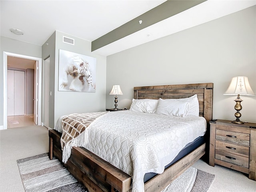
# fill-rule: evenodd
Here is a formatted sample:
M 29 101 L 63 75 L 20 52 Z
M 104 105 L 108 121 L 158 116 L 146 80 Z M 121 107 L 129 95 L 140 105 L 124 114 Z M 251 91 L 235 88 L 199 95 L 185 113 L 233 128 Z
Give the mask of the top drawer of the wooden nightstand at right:
M 216 129 L 216 139 L 250 145 L 250 134 Z

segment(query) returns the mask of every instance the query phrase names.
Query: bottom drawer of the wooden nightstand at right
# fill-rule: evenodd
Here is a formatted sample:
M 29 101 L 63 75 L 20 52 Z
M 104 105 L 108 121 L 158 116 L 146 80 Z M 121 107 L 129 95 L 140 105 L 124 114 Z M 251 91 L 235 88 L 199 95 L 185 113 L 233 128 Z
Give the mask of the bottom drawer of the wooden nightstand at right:
M 249 158 L 221 150 L 215 150 L 215 158 L 235 165 L 249 168 Z

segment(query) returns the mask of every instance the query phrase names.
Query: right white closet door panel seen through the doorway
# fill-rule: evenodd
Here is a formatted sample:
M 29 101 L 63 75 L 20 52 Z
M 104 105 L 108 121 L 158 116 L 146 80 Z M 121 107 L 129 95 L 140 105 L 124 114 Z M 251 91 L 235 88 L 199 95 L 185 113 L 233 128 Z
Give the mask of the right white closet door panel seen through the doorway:
M 24 115 L 25 72 L 14 71 L 14 115 Z

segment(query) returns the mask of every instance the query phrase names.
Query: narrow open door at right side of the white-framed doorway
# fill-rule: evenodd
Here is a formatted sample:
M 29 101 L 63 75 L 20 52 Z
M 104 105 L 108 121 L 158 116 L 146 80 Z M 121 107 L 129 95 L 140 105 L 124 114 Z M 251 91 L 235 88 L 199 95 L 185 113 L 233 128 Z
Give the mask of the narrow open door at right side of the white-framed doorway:
M 34 65 L 34 122 L 38 124 L 38 61 Z

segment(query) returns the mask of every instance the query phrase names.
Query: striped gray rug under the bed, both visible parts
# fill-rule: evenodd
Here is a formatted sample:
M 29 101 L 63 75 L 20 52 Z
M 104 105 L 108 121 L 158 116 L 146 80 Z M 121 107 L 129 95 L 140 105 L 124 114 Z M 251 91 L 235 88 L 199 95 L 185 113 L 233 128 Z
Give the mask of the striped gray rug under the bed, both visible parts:
M 17 160 L 26 192 L 87 192 L 62 163 L 48 153 Z M 162 192 L 207 192 L 214 175 L 188 168 Z

